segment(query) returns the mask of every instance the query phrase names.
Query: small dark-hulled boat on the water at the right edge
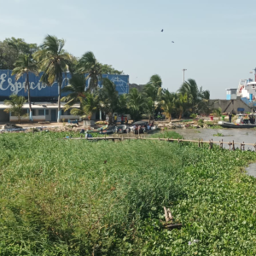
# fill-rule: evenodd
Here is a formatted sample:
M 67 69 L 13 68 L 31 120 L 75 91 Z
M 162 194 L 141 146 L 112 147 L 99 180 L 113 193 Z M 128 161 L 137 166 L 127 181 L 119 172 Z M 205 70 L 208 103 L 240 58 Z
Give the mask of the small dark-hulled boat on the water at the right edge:
M 255 113 L 239 113 L 237 114 L 235 124 L 225 121 L 218 121 L 218 125 L 221 125 L 224 128 L 254 128 L 256 127 L 255 118 Z

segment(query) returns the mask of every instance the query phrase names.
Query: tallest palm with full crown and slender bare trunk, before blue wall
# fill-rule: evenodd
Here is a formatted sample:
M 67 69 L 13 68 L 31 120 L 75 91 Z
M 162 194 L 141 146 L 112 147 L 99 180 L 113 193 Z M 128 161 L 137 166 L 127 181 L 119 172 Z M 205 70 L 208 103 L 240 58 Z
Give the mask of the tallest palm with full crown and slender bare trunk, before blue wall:
M 34 54 L 38 61 L 40 71 L 44 72 L 41 81 L 52 85 L 55 81 L 59 86 L 58 93 L 58 122 L 61 120 L 61 85 L 63 81 L 63 72 L 67 72 L 71 65 L 71 56 L 63 49 L 65 41 L 55 36 L 47 36 L 41 49 Z

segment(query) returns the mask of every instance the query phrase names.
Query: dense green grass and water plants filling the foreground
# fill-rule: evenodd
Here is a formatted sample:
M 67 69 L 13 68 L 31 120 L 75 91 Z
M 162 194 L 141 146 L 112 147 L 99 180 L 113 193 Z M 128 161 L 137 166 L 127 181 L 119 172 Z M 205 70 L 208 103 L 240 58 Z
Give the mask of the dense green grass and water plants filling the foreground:
M 255 153 L 66 135 L 1 135 L 1 256 L 256 254 Z

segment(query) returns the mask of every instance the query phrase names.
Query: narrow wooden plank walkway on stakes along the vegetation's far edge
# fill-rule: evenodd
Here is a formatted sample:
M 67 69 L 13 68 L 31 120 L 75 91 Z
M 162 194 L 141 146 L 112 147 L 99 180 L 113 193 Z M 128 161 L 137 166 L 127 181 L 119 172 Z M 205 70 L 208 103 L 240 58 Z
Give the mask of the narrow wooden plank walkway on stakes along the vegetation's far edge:
M 236 148 L 239 148 L 241 150 L 245 150 L 245 146 L 253 146 L 254 151 L 256 152 L 256 143 L 235 143 L 232 142 L 224 142 L 223 139 L 221 141 L 203 141 L 203 140 L 185 140 L 185 139 L 174 139 L 172 137 L 167 138 L 160 138 L 160 137 L 143 137 L 143 136 L 137 136 L 137 137 L 74 137 L 71 138 L 72 140 L 88 140 L 88 141 L 125 141 L 125 140 L 151 140 L 151 141 L 166 141 L 169 143 L 177 142 L 178 144 L 182 143 L 198 143 L 198 147 L 203 147 L 203 144 L 208 144 L 209 148 L 211 149 L 213 147 L 213 144 L 217 144 L 219 148 L 223 148 L 224 144 L 227 144 L 230 147 L 230 150 L 236 150 Z

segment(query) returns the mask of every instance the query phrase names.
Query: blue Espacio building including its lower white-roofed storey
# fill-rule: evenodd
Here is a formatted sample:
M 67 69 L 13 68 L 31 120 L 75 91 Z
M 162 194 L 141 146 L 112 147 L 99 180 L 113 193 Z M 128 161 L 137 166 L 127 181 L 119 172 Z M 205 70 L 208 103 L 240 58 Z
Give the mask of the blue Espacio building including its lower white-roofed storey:
M 0 121 L 15 121 L 15 117 L 9 116 L 9 113 L 3 112 L 7 108 L 3 101 L 9 98 L 10 95 L 16 94 L 19 96 L 26 96 L 25 88 L 26 77 L 21 77 L 18 81 L 15 76 L 11 75 L 12 70 L 0 70 Z M 55 82 L 51 86 L 47 86 L 40 82 L 41 74 L 39 76 L 33 73 L 29 74 L 30 94 L 32 101 L 32 112 L 34 120 L 48 120 L 56 121 L 57 119 L 57 100 L 58 100 L 58 84 Z M 84 74 L 86 76 L 86 74 Z M 71 78 L 70 73 L 63 73 L 63 82 L 61 88 L 67 86 L 68 80 Z M 119 95 L 129 93 L 129 76 L 128 75 L 114 75 L 102 74 L 102 79 L 108 78 L 116 85 L 116 90 Z M 88 89 L 88 80 L 86 81 L 86 89 Z M 102 81 L 99 81 L 98 86 L 102 87 Z M 61 96 L 67 96 L 68 93 L 61 93 Z M 65 105 L 61 103 L 61 108 Z M 28 104 L 24 105 L 24 113 L 28 111 Z M 61 119 L 68 119 L 70 112 L 61 113 Z M 78 117 L 70 116 L 70 119 Z

